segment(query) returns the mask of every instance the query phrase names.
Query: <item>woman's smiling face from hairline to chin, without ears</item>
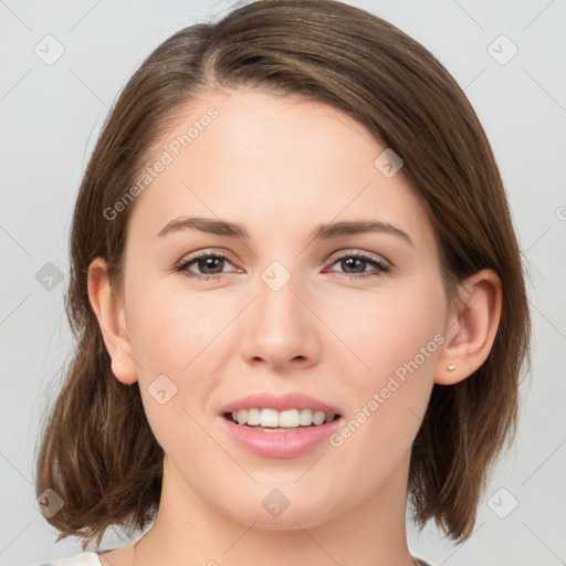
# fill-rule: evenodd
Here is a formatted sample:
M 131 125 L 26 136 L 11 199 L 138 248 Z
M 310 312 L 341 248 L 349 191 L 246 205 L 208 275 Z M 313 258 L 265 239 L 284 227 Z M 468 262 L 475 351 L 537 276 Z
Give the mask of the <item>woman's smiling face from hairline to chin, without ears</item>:
M 235 91 L 181 114 L 147 164 L 170 157 L 135 200 L 124 271 L 167 481 L 265 528 L 390 504 L 406 488 L 448 316 L 433 232 L 402 168 L 391 175 L 386 148 L 321 103 Z M 217 233 L 182 223 L 196 217 Z M 328 228 L 357 222 L 376 228 Z M 263 428 L 296 427 L 308 408 L 328 422 L 259 430 L 229 422 L 224 412 L 247 417 L 239 408 L 259 409 Z M 266 512 L 285 500 L 284 513 Z

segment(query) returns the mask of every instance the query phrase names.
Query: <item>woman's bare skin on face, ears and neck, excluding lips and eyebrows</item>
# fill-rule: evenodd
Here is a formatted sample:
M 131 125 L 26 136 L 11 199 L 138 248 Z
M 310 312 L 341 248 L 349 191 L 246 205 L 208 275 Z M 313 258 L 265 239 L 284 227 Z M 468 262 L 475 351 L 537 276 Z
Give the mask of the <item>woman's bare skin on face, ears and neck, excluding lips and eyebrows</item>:
M 500 281 L 489 270 L 475 274 L 450 307 L 432 228 L 402 169 L 386 178 L 374 165 L 385 148 L 322 103 L 210 92 L 182 109 L 155 155 L 210 106 L 219 116 L 136 198 L 123 294 L 102 259 L 88 271 L 113 371 L 125 385 L 139 381 L 166 453 L 159 512 L 135 564 L 409 566 L 411 444 L 433 384 L 460 381 L 485 360 Z M 196 230 L 157 237 L 188 214 L 241 223 L 250 240 Z M 413 247 L 390 233 L 308 238 L 319 223 L 360 219 L 395 224 Z M 208 272 L 202 262 L 187 269 L 221 279 L 175 272 L 205 249 L 230 258 Z M 392 269 L 356 271 L 337 252 L 366 252 Z M 291 275 L 276 292 L 261 279 L 275 260 Z M 356 279 L 360 271 L 376 276 Z M 438 334 L 443 344 L 340 447 L 266 459 L 218 424 L 233 399 L 296 390 L 337 406 L 348 421 Z M 165 405 L 148 391 L 163 374 L 177 387 Z M 262 506 L 275 488 L 290 501 L 276 517 Z M 133 558 L 130 544 L 102 562 Z

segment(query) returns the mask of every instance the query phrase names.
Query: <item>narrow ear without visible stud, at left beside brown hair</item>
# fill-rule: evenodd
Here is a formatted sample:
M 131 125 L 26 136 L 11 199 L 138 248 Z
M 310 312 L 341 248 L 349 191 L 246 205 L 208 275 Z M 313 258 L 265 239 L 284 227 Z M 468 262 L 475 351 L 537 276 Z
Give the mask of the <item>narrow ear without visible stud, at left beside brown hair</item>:
M 88 298 L 112 358 L 112 371 L 118 381 L 132 385 L 137 381 L 137 370 L 132 356 L 124 305 L 111 287 L 107 265 L 102 258 L 96 258 L 88 266 Z

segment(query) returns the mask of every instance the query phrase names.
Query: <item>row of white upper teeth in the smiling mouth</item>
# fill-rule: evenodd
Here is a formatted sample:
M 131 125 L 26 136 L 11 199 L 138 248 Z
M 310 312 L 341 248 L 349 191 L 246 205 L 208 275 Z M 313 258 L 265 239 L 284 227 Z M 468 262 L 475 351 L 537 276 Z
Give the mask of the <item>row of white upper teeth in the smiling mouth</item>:
M 240 409 L 232 412 L 232 420 L 239 424 L 250 427 L 285 428 L 319 427 L 334 420 L 334 413 L 312 411 L 311 409 L 289 409 L 277 411 L 275 409 Z

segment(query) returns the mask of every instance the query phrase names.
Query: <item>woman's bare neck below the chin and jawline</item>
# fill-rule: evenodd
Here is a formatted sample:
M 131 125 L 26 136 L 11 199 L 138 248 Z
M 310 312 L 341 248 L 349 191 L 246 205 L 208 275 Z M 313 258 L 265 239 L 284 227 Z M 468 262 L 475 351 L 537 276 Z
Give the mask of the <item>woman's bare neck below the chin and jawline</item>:
M 405 515 L 408 459 L 402 464 L 405 473 L 394 474 L 369 499 L 329 521 L 312 521 L 314 526 L 308 527 L 291 521 L 289 528 L 270 530 L 258 528 L 256 521 L 242 523 L 207 504 L 166 458 L 159 512 L 134 545 L 133 566 L 259 566 L 273 563 L 274 557 L 279 564 L 294 566 L 413 566 Z

